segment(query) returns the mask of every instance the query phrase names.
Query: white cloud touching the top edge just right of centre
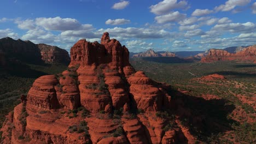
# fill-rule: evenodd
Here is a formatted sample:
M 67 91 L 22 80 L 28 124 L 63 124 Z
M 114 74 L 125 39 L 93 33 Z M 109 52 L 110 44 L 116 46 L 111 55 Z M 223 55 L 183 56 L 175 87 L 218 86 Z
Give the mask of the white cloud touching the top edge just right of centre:
M 187 1 L 180 1 L 177 3 L 177 0 L 164 0 L 159 2 L 158 4 L 151 5 L 150 12 L 156 15 L 166 14 L 173 9 L 180 9 L 180 8 L 188 8 Z

